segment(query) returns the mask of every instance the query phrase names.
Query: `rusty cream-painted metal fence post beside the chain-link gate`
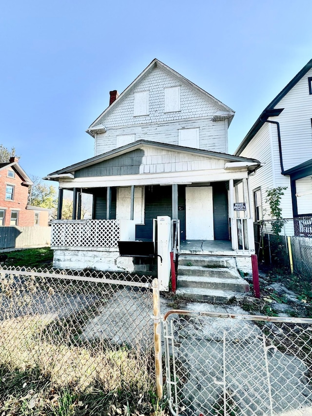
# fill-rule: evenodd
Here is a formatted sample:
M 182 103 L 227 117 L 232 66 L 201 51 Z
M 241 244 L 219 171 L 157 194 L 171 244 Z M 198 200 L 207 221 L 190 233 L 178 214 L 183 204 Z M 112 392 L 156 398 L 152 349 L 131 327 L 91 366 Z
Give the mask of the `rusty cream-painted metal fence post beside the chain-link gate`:
M 156 395 L 162 398 L 162 362 L 161 362 L 161 327 L 160 327 L 160 300 L 159 300 L 159 281 L 154 279 L 153 288 L 153 308 L 154 308 L 154 347 L 155 347 L 155 377 Z

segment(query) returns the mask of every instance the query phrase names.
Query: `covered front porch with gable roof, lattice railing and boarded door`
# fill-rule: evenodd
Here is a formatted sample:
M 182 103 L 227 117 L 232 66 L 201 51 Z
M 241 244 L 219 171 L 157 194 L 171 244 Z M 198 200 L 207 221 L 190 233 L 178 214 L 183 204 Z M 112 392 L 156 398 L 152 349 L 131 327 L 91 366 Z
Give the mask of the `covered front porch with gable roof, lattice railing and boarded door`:
M 155 241 L 154 222 L 161 216 L 178 224 L 168 236 L 177 251 L 180 241 L 200 240 L 215 242 L 209 250 L 214 253 L 250 256 L 254 231 L 248 175 L 258 166 L 254 159 L 140 140 L 54 172 L 47 179 L 59 181 L 51 242 L 58 266 L 69 264 L 62 258 L 82 258 L 83 253 L 100 257 L 98 268 L 107 268 L 103 258 L 114 251 L 108 270 L 116 270 L 118 241 Z M 65 220 L 63 196 L 69 190 L 73 211 Z M 88 219 L 83 218 L 84 195 L 92 198 Z

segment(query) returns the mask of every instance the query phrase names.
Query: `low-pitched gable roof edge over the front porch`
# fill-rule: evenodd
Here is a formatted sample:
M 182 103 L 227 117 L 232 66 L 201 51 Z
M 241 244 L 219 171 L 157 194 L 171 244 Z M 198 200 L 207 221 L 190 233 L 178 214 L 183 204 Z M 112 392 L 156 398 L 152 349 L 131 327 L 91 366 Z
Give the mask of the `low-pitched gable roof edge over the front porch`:
M 57 180 L 59 176 L 69 176 L 76 170 L 85 168 L 87 166 L 94 165 L 99 163 L 103 160 L 107 160 L 110 158 L 115 158 L 120 156 L 124 153 L 128 153 L 132 150 L 140 149 L 143 146 L 150 146 L 150 147 L 159 147 L 165 150 L 176 151 L 180 153 L 193 153 L 203 157 L 210 157 L 210 158 L 218 158 L 218 159 L 226 159 L 230 162 L 247 162 L 252 163 L 253 165 L 260 165 L 259 160 L 251 159 L 251 158 L 243 158 L 241 156 L 233 156 L 228 155 L 226 153 L 219 153 L 219 152 L 212 152 L 210 150 L 201 150 L 195 149 L 193 147 L 185 147 L 179 146 L 176 144 L 166 144 L 166 143 L 159 143 L 157 141 L 150 141 L 150 140 L 137 140 L 132 143 L 126 144 L 124 146 L 118 147 L 117 149 L 110 150 L 109 152 L 102 153 L 101 155 L 95 156 L 93 158 L 89 158 L 86 160 L 82 160 L 81 162 L 75 163 L 73 165 L 67 166 L 66 168 L 59 169 L 56 172 L 52 172 L 43 179 L 52 179 Z M 72 176 L 71 176 L 72 177 Z M 72 177 L 73 178 L 73 177 Z

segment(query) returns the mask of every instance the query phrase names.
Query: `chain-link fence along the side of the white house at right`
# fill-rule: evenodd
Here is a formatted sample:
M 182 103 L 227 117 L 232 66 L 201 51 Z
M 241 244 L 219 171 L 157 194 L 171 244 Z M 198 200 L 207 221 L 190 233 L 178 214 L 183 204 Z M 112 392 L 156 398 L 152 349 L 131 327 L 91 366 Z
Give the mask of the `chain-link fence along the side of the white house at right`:
M 295 273 L 312 276 L 312 217 L 261 221 L 254 232 L 260 260 L 288 268 L 292 261 Z

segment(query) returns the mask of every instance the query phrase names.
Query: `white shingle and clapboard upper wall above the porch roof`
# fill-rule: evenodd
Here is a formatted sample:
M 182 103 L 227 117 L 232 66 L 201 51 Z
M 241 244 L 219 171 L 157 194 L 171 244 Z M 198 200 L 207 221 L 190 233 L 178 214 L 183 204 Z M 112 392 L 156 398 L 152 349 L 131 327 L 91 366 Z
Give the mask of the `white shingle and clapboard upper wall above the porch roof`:
M 180 111 L 165 113 L 165 88 L 180 86 Z M 149 91 L 149 115 L 134 117 L 134 94 Z M 178 129 L 200 128 L 199 147 L 227 151 L 227 121 L 212 121 L 220 108 L 203 95 L 181 83 L 166 71 L 156 68 L 137 85 L 106 117 L 107 132 L 98 135 L 96 155 L 117 148 L 117 136 L 135 134 L 146 139 L 178 144 Z

